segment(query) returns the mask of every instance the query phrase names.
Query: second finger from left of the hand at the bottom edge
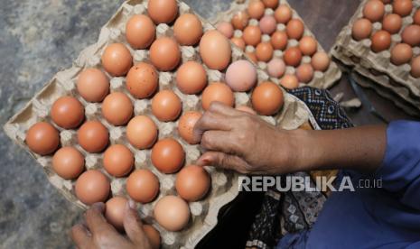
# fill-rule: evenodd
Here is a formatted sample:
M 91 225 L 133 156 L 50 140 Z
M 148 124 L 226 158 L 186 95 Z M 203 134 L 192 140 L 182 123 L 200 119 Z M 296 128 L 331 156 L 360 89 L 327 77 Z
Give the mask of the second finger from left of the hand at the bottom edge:
M 91 208 L 86 211 L 85 218 L 89 230 L 92 234 L 96 234 L 103 230 L 115 230 L 114 226 L 107 223 L 106 218 L 103 216 L 105 210 L 105 204 L 98 202 L 92 205 Z

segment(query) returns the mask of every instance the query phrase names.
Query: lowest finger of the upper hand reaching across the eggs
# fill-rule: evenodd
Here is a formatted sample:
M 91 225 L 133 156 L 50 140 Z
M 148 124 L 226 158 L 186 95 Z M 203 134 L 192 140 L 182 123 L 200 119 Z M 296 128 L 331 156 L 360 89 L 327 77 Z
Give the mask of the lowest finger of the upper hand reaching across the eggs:
M 196 164 L 199 166 L 214 166 L 225 170 L 247 173 L 247 161 L 238 156 L 223 152 L 205 152 Z

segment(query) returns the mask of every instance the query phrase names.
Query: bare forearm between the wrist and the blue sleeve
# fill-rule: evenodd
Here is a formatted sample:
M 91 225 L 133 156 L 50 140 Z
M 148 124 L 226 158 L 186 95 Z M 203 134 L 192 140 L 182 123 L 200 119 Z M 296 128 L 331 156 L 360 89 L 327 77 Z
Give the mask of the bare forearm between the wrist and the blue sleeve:
M 369 125 L 331 131 L 291 131 L 292 147 L 298 152 L 294 153 L 294 170 L 375 171 L 384 158 L 386 129 L 385 125 Z

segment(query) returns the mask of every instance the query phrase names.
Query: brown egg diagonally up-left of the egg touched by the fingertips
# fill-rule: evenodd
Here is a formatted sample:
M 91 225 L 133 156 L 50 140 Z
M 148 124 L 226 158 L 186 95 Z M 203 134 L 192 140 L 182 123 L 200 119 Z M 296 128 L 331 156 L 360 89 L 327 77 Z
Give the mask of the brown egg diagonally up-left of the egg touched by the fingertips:
M 175 120 L 180 115 L 181 109 L 181 99 L 172 90 L 160 91 L 152 99 L 152 113 L 160 121 Z

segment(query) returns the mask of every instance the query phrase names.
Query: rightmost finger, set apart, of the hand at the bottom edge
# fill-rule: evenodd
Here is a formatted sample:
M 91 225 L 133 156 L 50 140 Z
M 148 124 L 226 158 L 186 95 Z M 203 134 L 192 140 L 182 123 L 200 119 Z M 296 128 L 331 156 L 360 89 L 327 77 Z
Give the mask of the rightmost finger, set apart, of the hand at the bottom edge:
M 142 221 L 138 217 L 135 209 L 135 202 L 129 199 L 126 204 L 126 214 L 124 216 L 124 229 L 126 235 L 134 242 L 145 240 L 145 231 L 142 228 Z

